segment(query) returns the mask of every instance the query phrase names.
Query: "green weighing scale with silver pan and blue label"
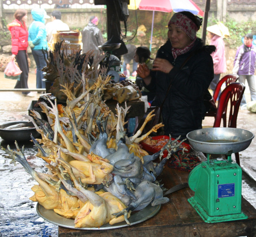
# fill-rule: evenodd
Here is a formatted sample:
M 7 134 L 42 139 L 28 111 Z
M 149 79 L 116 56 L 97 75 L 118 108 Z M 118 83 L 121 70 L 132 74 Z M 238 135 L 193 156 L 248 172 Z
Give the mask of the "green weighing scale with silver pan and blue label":
M 205 222 L 247 219 L 241 211 L 242 171 L 231 154 L 245 150 L 253 137 L 239 128 L 202 128 L 187 134 L 192 148 L 207 154 L 207 161 L 188 176 L 189 188 L 195 191 L 188 202 Z M 210 160 L 210 154 L 218 158 Z

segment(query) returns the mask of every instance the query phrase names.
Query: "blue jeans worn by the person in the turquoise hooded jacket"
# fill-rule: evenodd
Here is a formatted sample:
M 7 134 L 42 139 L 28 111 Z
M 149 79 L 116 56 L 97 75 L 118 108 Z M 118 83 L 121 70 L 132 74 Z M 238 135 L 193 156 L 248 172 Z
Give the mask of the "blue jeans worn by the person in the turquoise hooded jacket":
M 44 60 L 44 55 L 47 57 L 47 54 L 43 53 L 42 50 L 32 50 L 32 55 L 36 64 L 36 88 L 45 88 L 45 82 L 42 81 L 44 78 L 42 69 L 47 65 L 46 61 Z

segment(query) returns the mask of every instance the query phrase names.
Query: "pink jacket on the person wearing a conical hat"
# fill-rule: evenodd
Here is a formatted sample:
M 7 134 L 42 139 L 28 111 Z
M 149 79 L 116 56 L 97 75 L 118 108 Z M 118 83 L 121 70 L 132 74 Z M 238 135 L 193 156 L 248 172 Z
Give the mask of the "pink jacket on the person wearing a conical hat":
M 225 57 L 225 43 L 223 39 L 215 34 L 212 37 L 210 44 L 216 47 L 216 51 L 211 54 L 213 60 L 214 74 L 221 74 L 223 72 L 226 72 L 227 63 Z

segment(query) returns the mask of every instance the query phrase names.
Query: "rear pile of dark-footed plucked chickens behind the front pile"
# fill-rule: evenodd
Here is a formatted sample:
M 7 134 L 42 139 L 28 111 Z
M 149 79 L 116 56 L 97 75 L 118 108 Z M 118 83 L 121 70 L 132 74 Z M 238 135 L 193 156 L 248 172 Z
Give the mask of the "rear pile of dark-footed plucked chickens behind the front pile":
M 43 71 L 44 78 L 52 82 L 49 92 L 59 101 L 65 101 L 67 96 L 62 92 L 61 85 L 73 82 L 78 85 L 83 73 L 89 79 L 88 83 L 92 85 L 100 73 L 108 74 L 115 59 L 109 54 L 96 57 L 93 51 L 84 54 L 80 52 L 67 54 L 65 49 L 61 50 L 61 45 L 62 41 L 55 44 L 54 51 L 45 51 L 47 53 L 47 57 L 45 57 L 47 66 L 44 67 Z M 121 83 L 108 83 L 103 91 L 104 100 L 113 99 L 119 103 L 138 100 L 140 97 L 140 90 L 135 84 L 126 80 Z

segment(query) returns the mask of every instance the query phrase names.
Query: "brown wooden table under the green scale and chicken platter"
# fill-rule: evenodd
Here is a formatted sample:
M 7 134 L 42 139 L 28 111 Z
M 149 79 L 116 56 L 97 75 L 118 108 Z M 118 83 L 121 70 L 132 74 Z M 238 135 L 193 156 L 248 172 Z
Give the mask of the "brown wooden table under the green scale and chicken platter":
M 188 172 L 165 167 L 159 180 L 163 180 L 166 188 L 187 182 Z M 84 231 L 70 228 L 58 228 L 59 237 L 95 236 L 95 237 L 236 237 L 256 236 L 256 209 L 242 198 L 242 211 L 248 216 L 245 220 L 220 223 L 205 223 L 188 203 L 194 196 L 189 187 L 169 194 L 169 203 L 163 204 L 160 211 L 145 222 L 131 227 L 110 229 L 105 231 Z

